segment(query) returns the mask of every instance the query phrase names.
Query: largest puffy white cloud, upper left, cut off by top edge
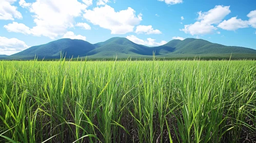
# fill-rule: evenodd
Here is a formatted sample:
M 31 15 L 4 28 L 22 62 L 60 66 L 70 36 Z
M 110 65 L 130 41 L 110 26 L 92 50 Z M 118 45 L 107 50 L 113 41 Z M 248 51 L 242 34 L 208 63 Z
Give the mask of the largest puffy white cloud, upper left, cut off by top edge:
M 67 28 L 74 27 L 73 18 L 80 16 L 87 8 L 87 5 L 77 0 L 37 0 L 34 3 L 22 0 L 20 5 L 35 14 L 33 17 L 36 26 L 30 29 L 31 33 L 51 39 L 66 33 Z

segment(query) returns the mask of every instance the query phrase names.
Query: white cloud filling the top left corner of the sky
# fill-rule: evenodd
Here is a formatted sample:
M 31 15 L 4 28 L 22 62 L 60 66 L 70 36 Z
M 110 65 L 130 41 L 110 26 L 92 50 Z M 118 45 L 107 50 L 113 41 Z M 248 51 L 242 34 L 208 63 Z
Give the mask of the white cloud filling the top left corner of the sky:
M 0 20 L 21 19 L 22 14 L 17 11 L 17 7 L 12 6 L 16 0 L 1 0 L 0 1 Z

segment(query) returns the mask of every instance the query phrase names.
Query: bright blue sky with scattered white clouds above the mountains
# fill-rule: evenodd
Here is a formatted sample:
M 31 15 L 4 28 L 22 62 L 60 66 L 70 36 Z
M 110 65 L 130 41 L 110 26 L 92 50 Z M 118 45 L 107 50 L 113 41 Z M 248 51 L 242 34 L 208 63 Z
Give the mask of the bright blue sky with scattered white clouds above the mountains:
M 0 55 L 61 38 L 147 46 L 200 38 L 256 49 L 256 1 L 0 0 Z

